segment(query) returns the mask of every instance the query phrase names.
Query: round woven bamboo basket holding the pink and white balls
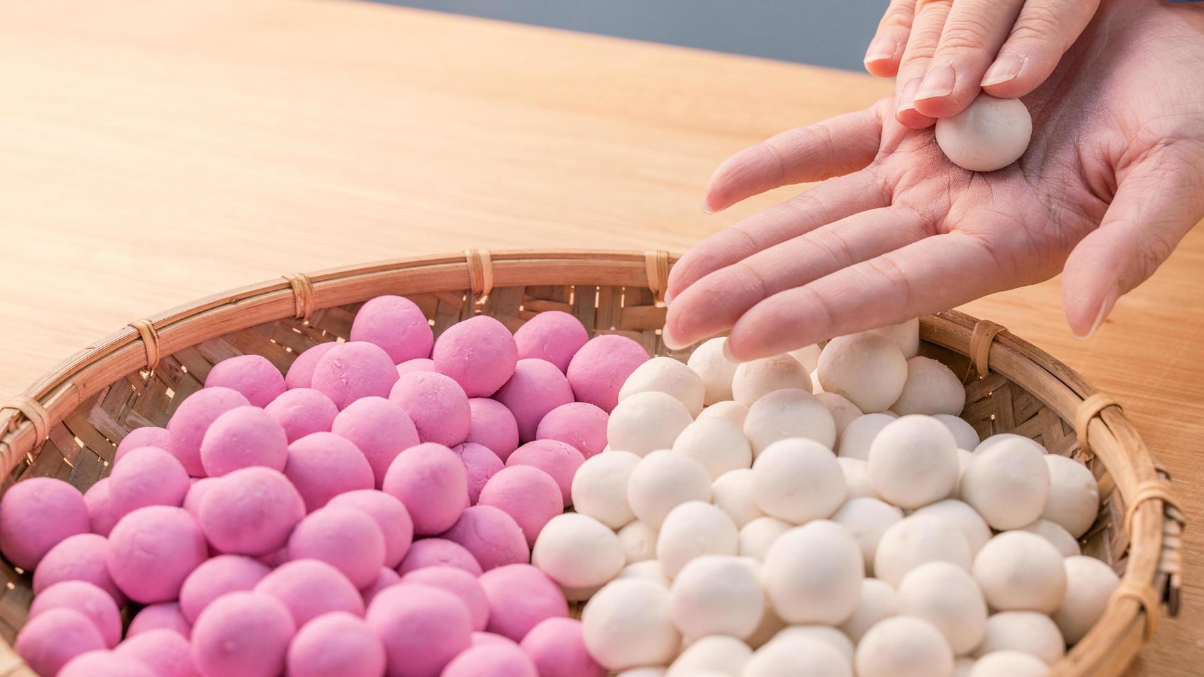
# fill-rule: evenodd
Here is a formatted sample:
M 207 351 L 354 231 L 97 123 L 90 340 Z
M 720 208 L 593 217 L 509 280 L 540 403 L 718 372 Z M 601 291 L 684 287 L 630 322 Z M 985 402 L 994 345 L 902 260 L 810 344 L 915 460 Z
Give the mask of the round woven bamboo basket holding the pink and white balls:
M 478 313 L 517 329 L 565 310 L 591 334 L 633 338 L 653 355 L 686 358 L 661 342 L 661 293 L 675 259 L 665 251 L 467 250 L 338 268 L 200 299 L 83 350 L 0 411 L 5 480 L 53 476 L 87 489 L 108 474 L 116 445 L 141 426 L 164 426 L 209 368 L 258 354 L 285 370 L 307 348 L 346 339 L 364 301 L 407 296 L 435 333 Z M 1060 676 L 1120 675 L 1153 633 L 1159 606 L 1174 616 L 1181 589 L 1182 516 L 1167 474 L 1120 406 L 1045 352 L 987 321 L 948 311 L 921 321 L 921 354 L 967 376 L 966 418 L 980 435 L 1011 432 L 1086 462 L 1102 509 L 1081 545 L 1122 575 L 1104 618 L 1055 667 Z M 24 624 L 29 572 L 0 562 L 0 677 L 33 676 L 11 642 Z M 128 610 L 129 611 L 129 610 Z

